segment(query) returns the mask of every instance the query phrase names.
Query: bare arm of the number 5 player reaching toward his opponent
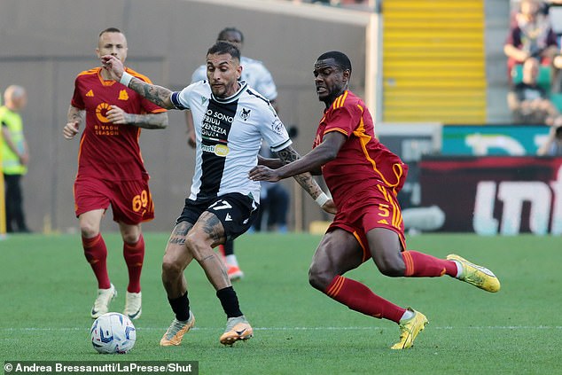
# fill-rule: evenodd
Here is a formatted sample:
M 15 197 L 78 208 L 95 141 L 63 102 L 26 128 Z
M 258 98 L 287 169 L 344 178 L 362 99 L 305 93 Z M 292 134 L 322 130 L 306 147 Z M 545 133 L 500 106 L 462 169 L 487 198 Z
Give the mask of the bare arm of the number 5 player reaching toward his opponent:
M 267 168 L 265 166 L 257 166 L 250 171 L 250 178 L 254 181 L 270 181 L 277 182 L 287 177 L 296 176 L 304 172 L 309 172 L 321 168 L 330 160 L 336 159 L 341 146 L 346 142 L 347 138 L 338 131 L 331 131 L 324 134 L 323 141 L 317 145 L 311 152 L 308 152 L 301 159 L 292 159 L 284 156 L 282 150 L 278 152 L 279 159 L 289 160 L 289 164 L 277 169 Z

